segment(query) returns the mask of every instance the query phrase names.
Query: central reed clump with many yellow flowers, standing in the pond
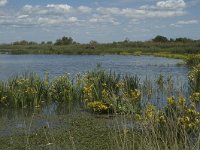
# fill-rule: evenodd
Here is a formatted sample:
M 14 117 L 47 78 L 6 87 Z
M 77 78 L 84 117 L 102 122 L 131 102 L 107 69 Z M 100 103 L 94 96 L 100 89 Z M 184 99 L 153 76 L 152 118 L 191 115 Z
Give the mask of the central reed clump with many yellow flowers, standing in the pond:
M 105 112 L 105 107 L 100 107 L 103 106 L 100 104 L 106 104 L 112 106 L 112 112 L 133 113 L 140 110 L 141 92 L 137 90 L 138 86 L 136 76 L 120 76 L 104 70 L 89 72 L 83 86 L 84 102 L 93 111 L 95 108 L 98 112 Z

